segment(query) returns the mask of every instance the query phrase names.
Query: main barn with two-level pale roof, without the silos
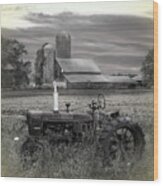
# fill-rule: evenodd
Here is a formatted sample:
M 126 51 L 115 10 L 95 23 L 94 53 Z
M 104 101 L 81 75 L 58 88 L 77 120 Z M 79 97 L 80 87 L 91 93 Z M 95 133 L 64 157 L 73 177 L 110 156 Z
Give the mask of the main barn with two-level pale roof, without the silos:
M 56 58 L 55 78 L 67 88 L 104 88 L 107 78 L 91 59 Z

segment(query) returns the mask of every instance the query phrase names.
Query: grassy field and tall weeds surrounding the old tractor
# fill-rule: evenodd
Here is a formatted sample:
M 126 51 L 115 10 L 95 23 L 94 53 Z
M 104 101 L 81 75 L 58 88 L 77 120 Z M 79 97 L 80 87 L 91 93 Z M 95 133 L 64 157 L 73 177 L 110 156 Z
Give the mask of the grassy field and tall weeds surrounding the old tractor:
M 74 112 L 86 112 L 88 103 L 95 95 L 63 95 L 59 97 L 61 110 L 65 103 L 71 102 Z M 104 167 L 94 157 L 94 148 L 89 145 L 48 146 L 39 160 L 24 168 L 20 148 L 28 138 L 24 114 L 28 109 L 49 110 L 53 108 L 52 96 L 31 96 L 2 98 L 1 138 L 2 138 L 2 176 L 8 177 L 52 177 L 87 179 L 153 179 L 153 93 L 111 94 L 106 96 L 106 112 L 120 110 L 138 122 L 145 133 L 145 152 L 127 174 L 115 174 L 115 170 Z M 15 137 L 18 137 L 18 140 Z M 53 153 L 53 154 L 52 154 Z

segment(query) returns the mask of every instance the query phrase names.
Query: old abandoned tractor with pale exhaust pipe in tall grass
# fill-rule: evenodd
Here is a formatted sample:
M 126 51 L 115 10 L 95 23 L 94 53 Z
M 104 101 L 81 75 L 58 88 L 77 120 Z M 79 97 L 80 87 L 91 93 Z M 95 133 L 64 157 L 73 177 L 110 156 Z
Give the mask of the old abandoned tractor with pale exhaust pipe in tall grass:
M 42 141 L 55 144 L 86 143 L 94 145 L 96 155 L 102 156 L 104 164 L 132 162 L 141 158 L 145 140 L 141 127 L 119 111 L 105 113 L 105 97 L 88 105 L 87 113 L 73 113 L 70 103 L 65 112 L 58 110 L 57 91 L 54 85 L 54 109 L 52 111 L 28 111 L 27 124 L 30 138 L 22 146 L 24 158 L 43 150 Z M 37 159 L 37 158 L 36 158 Z

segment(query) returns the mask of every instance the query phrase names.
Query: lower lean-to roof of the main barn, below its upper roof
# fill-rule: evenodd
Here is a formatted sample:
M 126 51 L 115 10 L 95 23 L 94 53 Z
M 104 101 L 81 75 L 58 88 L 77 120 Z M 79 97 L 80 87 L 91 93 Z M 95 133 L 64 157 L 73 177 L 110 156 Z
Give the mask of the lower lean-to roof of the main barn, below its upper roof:
M 67 74 L 64 76 L 71 83 L 107 82 L 107 78 L 102 74 Z

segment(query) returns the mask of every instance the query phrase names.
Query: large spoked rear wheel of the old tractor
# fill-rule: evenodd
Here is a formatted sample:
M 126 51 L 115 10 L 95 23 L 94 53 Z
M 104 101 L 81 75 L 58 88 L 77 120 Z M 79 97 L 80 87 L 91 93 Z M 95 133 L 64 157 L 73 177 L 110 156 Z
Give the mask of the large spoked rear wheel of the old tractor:
M 103 163 L 126 167 L 142 156 L 145 146 L 144 134 L 137 124 L 118 123 L 112 130 L 103 131 L 100 137 Z

